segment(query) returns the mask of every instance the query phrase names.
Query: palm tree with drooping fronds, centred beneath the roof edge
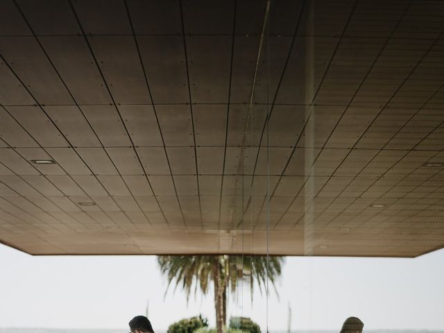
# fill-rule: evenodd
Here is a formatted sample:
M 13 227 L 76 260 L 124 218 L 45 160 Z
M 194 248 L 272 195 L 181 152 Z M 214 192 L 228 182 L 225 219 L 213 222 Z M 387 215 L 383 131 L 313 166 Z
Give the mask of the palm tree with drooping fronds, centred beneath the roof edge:
M 253 296 L 253 282 L 259 289 L 267 286 L 268 281 L 275 286 L 275 280 L 282 272 L 283 257 L 267 257 L 261 255 L 160 255 L 157 257 L 162 274 L 171 283 L 180 285 L 187 293 L 200 290 L 206 294 L 210 282 L 214 284 L 214 306 L 216 307 L 217 333 L 223 332 L 227 319 L 227 290 L 236 290 L 238 279 L 250 278 L 250 289 Z M 267 272 L 268 267 L 268 272 Z M 167 290 L 168 290 L 167 287 Z M 176 289 L 175 289 L 176 290 Z

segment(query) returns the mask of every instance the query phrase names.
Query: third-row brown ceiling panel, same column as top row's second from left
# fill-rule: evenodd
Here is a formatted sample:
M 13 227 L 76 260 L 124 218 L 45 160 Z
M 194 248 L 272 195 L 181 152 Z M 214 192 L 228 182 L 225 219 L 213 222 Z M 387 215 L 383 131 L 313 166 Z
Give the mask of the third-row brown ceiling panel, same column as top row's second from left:
M 103 146 L 131 145 L 116 108 L 112 105 L 80 105 Z

